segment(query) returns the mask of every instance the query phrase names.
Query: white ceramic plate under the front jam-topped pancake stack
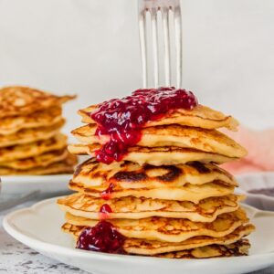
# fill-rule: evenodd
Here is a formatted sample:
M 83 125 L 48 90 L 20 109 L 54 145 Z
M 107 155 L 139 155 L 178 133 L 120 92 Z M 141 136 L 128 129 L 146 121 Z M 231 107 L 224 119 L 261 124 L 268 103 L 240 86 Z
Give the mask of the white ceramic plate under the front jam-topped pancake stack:
M 56 198 L 17 210 L 5 216 L 3 224 L 12 237 L 26 246 L 93 274 L 237 274 L 264 269 L 274 263 L 274 213 L 244 206 L 257 230 L 249 237 L 250 256 L 236 258 L 180 260 L 79 250 L 73 247 L 72 237 L 61 232 L 64 214 L 58 209 Z

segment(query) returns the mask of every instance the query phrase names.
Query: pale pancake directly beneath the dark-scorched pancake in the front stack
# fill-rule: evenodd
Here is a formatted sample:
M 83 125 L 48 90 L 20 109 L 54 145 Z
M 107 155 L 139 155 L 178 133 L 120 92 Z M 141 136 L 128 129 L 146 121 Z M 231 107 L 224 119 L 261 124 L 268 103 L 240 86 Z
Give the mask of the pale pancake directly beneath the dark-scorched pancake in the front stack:
M 71 190 L 78 191 L 80 193 L 86 193 L 94 197 L 104 197 L 105 199 L 134 196 L 138 198 L 146 197 L 163 200 L 189 201 L 195 204 L 205 198 L 231 195 L 234 191 L 233 186 L 221 184 L 219 181 L 201 185 L 184 184 L 184 186 L 181 187 L 162 187 L 152 189 L 122 189 L 116 185 L 110 185 L 103 191 L 70 181 L 68 187 Z

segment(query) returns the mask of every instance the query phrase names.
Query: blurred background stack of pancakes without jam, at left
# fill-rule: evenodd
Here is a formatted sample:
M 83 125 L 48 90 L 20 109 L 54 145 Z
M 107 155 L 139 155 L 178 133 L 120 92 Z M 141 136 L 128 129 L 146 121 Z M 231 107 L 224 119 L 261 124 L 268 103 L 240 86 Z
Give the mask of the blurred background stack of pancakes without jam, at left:
M 0 175 L 73 172 L 76 156 L 60 133 L 62 104 L 73 98 L 25 87 L 0 90 Z

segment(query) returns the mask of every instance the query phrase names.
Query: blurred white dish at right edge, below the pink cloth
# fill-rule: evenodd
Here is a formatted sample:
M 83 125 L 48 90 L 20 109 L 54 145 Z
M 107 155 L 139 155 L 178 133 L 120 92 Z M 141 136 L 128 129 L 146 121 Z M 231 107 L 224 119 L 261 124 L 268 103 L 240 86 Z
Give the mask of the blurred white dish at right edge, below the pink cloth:
M 274 211 L 274 196 L 248 193 L 251 189 L 274 188 L 274 173 L 262 172 L 255 174 L 243 174 L 237 176 L 240 190 L 247 195 L 245 201 L 248 205 L 257 208 Z

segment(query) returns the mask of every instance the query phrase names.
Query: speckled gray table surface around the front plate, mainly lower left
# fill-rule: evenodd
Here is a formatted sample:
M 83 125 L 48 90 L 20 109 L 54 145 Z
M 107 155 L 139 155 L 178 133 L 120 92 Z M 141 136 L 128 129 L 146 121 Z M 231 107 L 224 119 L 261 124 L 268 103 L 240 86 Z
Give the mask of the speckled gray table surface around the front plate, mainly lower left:
M 25 207 L 33 203 L 35 202 L 26 203 L 25 205 L 17 207 Z M 13 237 L 10 237 L 2 227 L 2 220 L 5 214 L 12 210 L 0 212 L 0 274 L 87 274 L 86 271 L 40 255 L 35 250 L 26 247 Z M 274 274 L 274 265 L 272 268 L 253 272 L 252 274 Z

